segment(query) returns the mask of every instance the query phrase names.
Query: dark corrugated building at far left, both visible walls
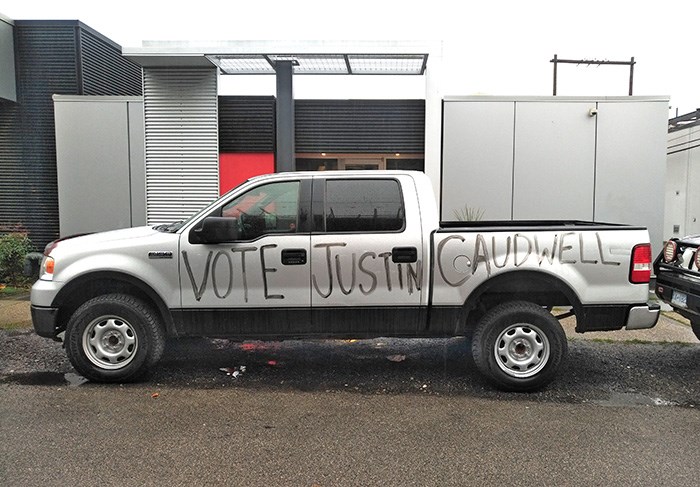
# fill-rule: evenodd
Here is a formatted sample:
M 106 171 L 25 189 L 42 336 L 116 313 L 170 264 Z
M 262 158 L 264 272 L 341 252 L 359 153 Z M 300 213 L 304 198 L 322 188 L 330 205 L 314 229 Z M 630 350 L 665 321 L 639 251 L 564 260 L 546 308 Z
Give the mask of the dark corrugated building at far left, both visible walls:
M 5 19 L 0 27 L 12 39 L 0 72 L 15 74 L 14 93 L 6 79 L 0 99 L 0 228 L 22 227 L 41 247 L 59 235 L 52 96 L 141 95 L 141 68 L 79 21 Z

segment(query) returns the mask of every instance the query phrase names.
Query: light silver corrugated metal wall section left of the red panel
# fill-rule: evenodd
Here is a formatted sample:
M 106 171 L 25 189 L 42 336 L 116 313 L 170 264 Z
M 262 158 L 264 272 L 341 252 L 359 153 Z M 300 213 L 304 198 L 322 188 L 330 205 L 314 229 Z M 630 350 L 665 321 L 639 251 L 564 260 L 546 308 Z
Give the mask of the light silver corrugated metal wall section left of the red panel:
M 144 68 L 148 223 L 181 220 L 218 196 L 215 69 Z

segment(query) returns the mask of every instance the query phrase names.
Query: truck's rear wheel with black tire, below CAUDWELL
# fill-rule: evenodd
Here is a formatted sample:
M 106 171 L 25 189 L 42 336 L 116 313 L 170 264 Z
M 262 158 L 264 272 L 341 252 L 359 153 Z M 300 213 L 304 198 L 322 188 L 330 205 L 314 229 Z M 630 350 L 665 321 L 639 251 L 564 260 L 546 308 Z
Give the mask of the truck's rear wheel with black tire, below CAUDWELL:
M 503 303 L 484 315 L 474 332 L 472 356 L 500 389 L 527 392 L 555 377 L 568 351 L 566 334 L 546 309 L 526 301 Z

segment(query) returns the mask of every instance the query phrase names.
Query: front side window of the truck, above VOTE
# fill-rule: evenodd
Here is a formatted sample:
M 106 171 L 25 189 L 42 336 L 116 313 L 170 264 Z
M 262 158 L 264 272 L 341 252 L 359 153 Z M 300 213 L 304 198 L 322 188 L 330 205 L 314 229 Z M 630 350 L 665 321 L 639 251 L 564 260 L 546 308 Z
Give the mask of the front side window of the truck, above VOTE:
M 257 186 L 221 209 L 221 216 L 238 219 L 241 240 L 266 233 L 294 233 L 298 214 L 299 181 Z

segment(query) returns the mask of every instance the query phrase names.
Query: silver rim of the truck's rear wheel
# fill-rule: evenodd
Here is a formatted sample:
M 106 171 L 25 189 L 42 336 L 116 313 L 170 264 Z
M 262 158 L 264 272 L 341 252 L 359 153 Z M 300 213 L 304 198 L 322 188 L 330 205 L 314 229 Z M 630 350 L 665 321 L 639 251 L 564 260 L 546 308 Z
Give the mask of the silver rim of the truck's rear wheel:
M 493 348 L 498 367 L 511 377 L 526 379 L 540 372 L 549 360 L 547 336 L 528 323 L 510 325 Z

